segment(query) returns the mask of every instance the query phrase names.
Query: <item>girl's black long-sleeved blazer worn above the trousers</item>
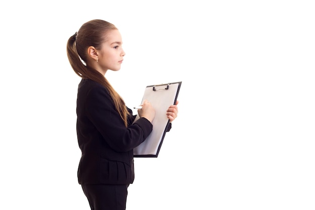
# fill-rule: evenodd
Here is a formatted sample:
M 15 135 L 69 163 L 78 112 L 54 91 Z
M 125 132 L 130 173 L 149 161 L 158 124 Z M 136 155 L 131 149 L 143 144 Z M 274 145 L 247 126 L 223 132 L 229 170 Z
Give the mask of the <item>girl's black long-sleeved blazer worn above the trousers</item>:
M 83 79 L 78 85 L 77 140 L 82 151 L 77 177 L 80 184 L 130 184 L 134 180 L 133 149 L 152 131 L 146 118 L 128 127 L 115 110 L 107 90 L 97 82 Z

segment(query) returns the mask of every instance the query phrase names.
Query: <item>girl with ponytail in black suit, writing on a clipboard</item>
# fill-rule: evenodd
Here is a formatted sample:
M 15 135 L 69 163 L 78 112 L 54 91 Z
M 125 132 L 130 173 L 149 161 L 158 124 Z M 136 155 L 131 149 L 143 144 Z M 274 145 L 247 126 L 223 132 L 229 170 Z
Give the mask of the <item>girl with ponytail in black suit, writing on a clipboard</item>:
M 78 183 L 91 209 L 126 209 L 127 188 L 134 180 L 133 149 L 152 131 L 155 111 L 145 100 L 138 110 L 140 118 L 133 123 L 132 110 L 105 78 L 108 70 L 120 69 L 125 56 L 121 35 L 113 24 L 103 20 L 83 24 L 68 39 L 67 56 L 82 78 L 76 104 L 82 151 Z M 177 117 L 177 104 L 166 110 L 170 122 Z

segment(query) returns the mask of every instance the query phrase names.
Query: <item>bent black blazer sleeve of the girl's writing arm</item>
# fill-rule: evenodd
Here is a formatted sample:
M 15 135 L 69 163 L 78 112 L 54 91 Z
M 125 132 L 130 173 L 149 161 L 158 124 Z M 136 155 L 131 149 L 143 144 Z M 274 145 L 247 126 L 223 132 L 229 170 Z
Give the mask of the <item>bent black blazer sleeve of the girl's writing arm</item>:
M 152 131 L 151 122 L 143 117 L 126 127 L 105 88 L 92 88 L 85 107 L 88 118 L 104 141 L 117 152 L 133 150 Z

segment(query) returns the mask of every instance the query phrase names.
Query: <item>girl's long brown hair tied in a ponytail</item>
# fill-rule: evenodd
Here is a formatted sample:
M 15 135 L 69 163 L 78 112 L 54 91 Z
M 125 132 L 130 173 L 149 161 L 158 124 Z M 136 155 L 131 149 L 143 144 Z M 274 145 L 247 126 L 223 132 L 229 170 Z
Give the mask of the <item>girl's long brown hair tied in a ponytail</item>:
M 125 102 L 114 90 L 107 79 L 96 71 L 96 69 L 87 66 L 87 49 L 94 46 L 101 49 L 108 31 L 117 29 L 113 24 L 103 20 L 92 20 L 81 26 L 77 33 L 72 35 L 67 42 L 67 56 L 74 72 L 83 79 L 90 79 L 103 85 L 109 92 L 116 110 L 123 119 L 127 127 L 127 117 L 129 112 Z

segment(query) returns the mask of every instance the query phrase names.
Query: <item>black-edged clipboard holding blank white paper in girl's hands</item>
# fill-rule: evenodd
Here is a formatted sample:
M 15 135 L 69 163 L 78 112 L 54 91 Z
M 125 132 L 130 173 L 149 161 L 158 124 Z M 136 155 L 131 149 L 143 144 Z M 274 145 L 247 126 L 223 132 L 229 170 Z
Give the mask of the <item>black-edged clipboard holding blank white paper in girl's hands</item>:
M 152 121 L 153 129 L 149 136 L 138 147 L 133 149 L 133 157 L 157 158 L 159 155 L 170 120 L 166 116 L 166 110 L 175 104 L 182 82 L 146 86 L 141 104 L 148 100 L 155 109 L 155 117 Z M 139 119 L 139 115 L 135 120 Z

